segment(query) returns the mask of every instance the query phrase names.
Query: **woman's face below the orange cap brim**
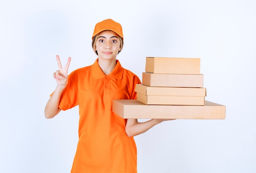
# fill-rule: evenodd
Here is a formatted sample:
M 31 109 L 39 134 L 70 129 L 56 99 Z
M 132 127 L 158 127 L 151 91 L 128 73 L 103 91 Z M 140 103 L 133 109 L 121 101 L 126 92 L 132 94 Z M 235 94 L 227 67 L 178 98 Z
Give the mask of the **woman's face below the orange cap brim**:
M 99 33 L 96 50 L 99 59 L 116 59 L 118 51 L 121 51 L 120 40 L 114 31 L 102 31 Z

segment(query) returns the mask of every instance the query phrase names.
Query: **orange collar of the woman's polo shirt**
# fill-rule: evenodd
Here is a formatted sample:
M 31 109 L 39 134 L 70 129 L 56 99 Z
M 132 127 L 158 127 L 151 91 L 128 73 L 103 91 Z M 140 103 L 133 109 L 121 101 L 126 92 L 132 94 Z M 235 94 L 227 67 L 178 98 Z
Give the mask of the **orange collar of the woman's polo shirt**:
M 115 66 L 114 70 L 112 70 L 112 72 L 107 76 L 115 79 L 122 79 L 124 68 L 121 66 L 120 62 L 117 59 L 116 63 L 117 65 Z M 101 68 L 99 67 L 98 59 L 96 59 L 94 64 L 92 64 L 91 70 L 93 79 L 100 79 L 106 77 L 106 74 L 104 74 Z

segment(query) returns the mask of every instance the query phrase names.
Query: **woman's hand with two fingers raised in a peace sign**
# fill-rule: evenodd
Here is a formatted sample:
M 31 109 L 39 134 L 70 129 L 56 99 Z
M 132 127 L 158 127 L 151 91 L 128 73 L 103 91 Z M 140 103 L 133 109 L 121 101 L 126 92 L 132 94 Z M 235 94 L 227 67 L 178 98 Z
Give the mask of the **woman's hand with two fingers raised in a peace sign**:
M 68 82 L 67 70 L 68 70 L 68 67 L 70 66 L 71 57 L 68 57 L 65 68 L 62 68 L 61 60 L 58 55 L 56 55 L 56 59 L 57 59 L 59 70 L 56 70 L 56 72 L 53 73 L 53 77 L 56 80 L 57 86 L 66 88 L 67 82 Z

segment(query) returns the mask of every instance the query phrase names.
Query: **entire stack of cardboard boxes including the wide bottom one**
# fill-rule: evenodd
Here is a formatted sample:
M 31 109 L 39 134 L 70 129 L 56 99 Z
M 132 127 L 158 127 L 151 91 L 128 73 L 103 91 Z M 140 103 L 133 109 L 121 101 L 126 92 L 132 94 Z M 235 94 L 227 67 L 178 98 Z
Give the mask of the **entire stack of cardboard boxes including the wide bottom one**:
M 206 101 L 199 58 L 146 57 L 137 100 L 113 100 L 122 118 L 225 119 L 226 107 Z

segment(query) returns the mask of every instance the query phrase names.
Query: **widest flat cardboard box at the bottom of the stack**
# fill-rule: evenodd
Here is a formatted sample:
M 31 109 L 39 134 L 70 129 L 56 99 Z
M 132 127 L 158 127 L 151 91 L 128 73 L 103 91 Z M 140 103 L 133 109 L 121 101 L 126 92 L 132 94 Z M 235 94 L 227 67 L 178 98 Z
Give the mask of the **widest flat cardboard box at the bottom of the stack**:
M 204 106 L 145 105 L 137 100 L 113 100 L 112 111 L 135 119 L 225 119 L 226 106 L 205 101 Z

